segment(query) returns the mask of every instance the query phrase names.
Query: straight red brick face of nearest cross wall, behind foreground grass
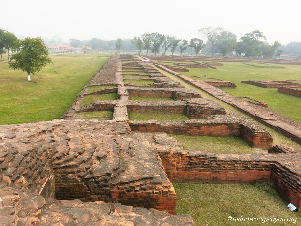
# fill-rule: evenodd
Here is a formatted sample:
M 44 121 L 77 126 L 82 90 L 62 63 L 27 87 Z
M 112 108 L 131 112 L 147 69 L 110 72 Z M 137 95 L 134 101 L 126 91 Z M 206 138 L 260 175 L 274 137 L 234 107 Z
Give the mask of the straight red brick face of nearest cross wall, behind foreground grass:
M 253 183 L 269 181 L 272 162 L 241 160 L 231 154 L 159 152 L 174 182 Z

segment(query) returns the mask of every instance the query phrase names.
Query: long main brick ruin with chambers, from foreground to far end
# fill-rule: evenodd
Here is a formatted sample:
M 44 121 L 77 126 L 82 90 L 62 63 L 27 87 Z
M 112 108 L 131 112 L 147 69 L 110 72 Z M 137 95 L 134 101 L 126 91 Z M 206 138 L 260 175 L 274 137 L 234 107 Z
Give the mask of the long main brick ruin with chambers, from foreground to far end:
M 143 72 L 154 83 L 124 82 L 129 71 Z M 99 89 L 90 92 L 93 86 Z M 106 93 L 116 93 L 117 100 L 82 105 L 87 96 Z M 174 101 L 130 100 L 136 96 Z M 112 119 L 78 114 L 104 110 L 113 112 Z M 185 114 L 189 120 L 133 121 L 130 112 Z M 241 137 L 249 146 L 269 151 L 185 150 L 171 133 Z M 173 181 L 272 181 L 285 200 L 298 210 L 301 206 L 300 151 L 272 147 L 273 138 L 254 120 L 227 114 L 136 56 L 113 55 L 62 119 L 2 125 L 0 138 L 0 220 L 7 224 L 47 225 L 47 219 L 53 224 L 194 225 L 189 216 L 171 215 L 176 213 Z

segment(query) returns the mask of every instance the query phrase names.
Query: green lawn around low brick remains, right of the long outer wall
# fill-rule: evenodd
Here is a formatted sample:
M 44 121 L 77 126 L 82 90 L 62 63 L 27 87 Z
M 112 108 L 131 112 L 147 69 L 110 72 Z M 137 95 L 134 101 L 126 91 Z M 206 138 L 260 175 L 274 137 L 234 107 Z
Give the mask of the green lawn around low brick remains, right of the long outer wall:
M 301 66 L 299 65 L 278 65 L 259 63 L 232 63 L 222 62 L 223 67 L 191 68 L 189 72 L 181 72 L 187 76 L 208 75 L 207 78 L 191 77 L 195 80 L 210 80 L 212 78 L 230 81 L 237 85 L 236 89 L 223 88 L 224 91 L 233 96 L 248 96 L 268 104 L 268 108 L 284 116 L 301 122 L 301 101 L 300 97 L 279 93 L 277 88 L 261 88 L 254 85 L 244 84 L 246 80 L 301 80 Z

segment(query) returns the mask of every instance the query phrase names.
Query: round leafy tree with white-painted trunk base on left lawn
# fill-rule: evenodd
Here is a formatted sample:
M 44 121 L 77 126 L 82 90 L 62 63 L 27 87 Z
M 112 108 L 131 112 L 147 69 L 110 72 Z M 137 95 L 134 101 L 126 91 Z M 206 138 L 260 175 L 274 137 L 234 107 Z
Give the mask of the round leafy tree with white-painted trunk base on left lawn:
M 16 49 L 19 51 L 10 58 L 9 67 L 27 72 L 28 81 L 31 81 L 30 73 L 34 75 L 47 63 L 52 63 L 41 37 L 20 40 Z

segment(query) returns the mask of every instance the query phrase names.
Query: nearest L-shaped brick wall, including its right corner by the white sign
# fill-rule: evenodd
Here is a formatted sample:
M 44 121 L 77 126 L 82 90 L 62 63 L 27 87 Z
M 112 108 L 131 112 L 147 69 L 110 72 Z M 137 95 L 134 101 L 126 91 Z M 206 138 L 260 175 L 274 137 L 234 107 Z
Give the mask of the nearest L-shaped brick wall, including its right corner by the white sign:
M 142 136 L 142 134 L 134 134 Z M 171 181 L 210 183 L 252 183 L 272 181 L 283 198 L 298 208 L 301 201 L 301 152 L 287 154 L 218 154 L 184 150 L 167 134 L 149 135 Z M 150 140 L 150 139 L 149 139 Z M 298 209 L 300 211 L 300 208 Z

